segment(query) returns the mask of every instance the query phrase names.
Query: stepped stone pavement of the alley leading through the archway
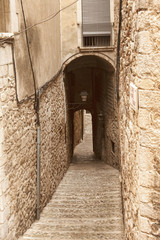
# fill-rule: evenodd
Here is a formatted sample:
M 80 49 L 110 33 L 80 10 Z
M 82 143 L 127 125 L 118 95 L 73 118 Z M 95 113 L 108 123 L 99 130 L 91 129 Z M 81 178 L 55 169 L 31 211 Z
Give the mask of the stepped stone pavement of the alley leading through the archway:
M 122 240 L 119 172 L 96 161 L 90 136 L 75 150 L 73 162 L 39 221 L 19 240 Z

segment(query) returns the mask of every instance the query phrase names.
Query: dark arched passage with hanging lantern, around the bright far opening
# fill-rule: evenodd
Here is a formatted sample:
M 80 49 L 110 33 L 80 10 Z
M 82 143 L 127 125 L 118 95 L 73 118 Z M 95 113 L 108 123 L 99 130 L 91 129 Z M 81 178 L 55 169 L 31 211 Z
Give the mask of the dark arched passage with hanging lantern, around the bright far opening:
M 110 62 L 95 55 L 72 60 L 65 68 L 65 86 L 74 147 L 74 113 L 92 114 L 93 151 L 97 158 L 118 167 L 118 124 L 115 107 L 115 71 Z M 85 93 L 87 99 L 82 100 Z

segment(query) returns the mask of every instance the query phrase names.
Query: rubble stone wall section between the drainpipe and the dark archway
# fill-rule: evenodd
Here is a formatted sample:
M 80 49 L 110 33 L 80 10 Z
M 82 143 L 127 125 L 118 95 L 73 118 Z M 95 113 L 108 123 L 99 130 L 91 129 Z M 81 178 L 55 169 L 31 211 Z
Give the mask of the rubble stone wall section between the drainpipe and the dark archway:
M 41 209 L 50 200 L 70 161 L 65 107 L 63 80 L 60 76 L 40 98 Z

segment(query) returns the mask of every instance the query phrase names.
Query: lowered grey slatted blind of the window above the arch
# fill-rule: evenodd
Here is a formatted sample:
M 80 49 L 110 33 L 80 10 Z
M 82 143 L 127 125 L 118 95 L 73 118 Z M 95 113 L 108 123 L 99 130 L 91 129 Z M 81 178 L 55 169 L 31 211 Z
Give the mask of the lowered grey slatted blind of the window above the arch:
M 83 36 L 111 35 L 110 0 L 82 0 Z

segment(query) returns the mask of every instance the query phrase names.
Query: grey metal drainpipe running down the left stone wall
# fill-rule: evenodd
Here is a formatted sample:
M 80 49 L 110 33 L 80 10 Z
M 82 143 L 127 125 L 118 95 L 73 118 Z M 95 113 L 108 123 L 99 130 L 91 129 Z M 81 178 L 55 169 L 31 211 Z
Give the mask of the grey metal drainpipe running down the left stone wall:
M 41 183 L 41 127 L 39 119 L 39 90 L 37 91 L 36 113 L 37 113 L 37 220 L 40 219 L 40 183 Z

